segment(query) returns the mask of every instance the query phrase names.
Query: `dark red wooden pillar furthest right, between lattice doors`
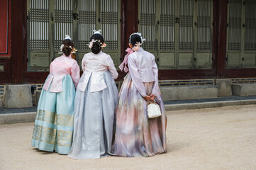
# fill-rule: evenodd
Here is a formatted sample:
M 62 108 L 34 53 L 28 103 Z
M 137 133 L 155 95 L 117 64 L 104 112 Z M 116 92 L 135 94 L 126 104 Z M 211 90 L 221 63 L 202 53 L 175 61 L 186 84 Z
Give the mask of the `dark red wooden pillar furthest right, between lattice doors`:
M 227 14 L 228 1 L 218 0 L 216 2 L 216 78 L 224 78 L 226 69 L 226 42 L 227 42 Z

